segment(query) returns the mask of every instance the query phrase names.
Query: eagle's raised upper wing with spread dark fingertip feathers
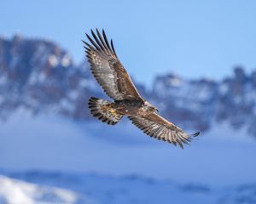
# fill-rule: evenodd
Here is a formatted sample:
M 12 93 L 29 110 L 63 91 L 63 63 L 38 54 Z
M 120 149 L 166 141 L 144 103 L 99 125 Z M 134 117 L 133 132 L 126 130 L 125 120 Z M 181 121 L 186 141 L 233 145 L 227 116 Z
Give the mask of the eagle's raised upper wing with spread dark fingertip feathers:
M 91 30 L 91 35 L 93 39 L 86 34 L 91 44 L 83 41 L 86 45 L 84 48 L 91 72 L 104 92 L 114 100 L 143 100 L 120 63 L 113 48 L 113 41 L 109 44 L 104 30 L 102 34 L 97 29 L 96 33 Z

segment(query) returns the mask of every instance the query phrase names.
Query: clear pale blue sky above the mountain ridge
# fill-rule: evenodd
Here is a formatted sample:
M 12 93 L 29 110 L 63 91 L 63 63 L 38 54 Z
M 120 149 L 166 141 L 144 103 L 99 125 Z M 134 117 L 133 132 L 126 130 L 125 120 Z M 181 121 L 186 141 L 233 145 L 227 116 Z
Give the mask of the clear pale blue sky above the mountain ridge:
M 84 59 L 81 39 L 105 28 L 119 59 L 138 82 L 155 75 L 231 75 L 256 69 L 255 1 L 14 1 L 0 3 L 0 35 L 47 37 Z

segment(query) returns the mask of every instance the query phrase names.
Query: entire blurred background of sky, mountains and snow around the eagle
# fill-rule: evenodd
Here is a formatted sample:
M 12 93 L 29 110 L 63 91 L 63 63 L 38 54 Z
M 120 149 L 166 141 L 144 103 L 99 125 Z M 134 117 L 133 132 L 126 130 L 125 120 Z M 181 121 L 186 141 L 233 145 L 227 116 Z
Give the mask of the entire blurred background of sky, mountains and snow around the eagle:
M 256 203 L 254 1 L 0 9 L 0 203 Z M 143 97 L 201 137 L 181 150 L 90 116 L 90 96 L 108 99 L 81 42 L 96 27 Z

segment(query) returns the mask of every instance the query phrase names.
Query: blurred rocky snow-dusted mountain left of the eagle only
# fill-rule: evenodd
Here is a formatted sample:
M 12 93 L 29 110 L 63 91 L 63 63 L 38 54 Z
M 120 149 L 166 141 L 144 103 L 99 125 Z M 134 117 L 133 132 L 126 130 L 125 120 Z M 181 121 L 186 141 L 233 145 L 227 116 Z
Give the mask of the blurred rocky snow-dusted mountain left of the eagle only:
M 85 119 L 84 101 L 95 93 L 89 71 L 73 65 L 53 42 L 0 39 L 0 117 L 7 120 L 19 107 L 33 114 L 50 111 Z

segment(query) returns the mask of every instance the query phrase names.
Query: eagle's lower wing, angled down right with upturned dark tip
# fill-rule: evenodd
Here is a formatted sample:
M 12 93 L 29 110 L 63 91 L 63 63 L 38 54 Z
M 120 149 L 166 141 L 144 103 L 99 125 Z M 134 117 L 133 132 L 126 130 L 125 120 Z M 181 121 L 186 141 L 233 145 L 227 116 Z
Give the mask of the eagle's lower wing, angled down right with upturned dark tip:
M 181 148 L 183 148 L 183 144 L 189 144 L 193 137 L 199 135 L 199 133 L 189 135 L 183 132 L 181 128 L 175 126 L 172 122 L 166 121 L 165 118 L 155 112 L 145 112 L 138 116 L 128 116 L 128 118 L 150 137 L 161 139 L 174 145 L 179 144 Z

